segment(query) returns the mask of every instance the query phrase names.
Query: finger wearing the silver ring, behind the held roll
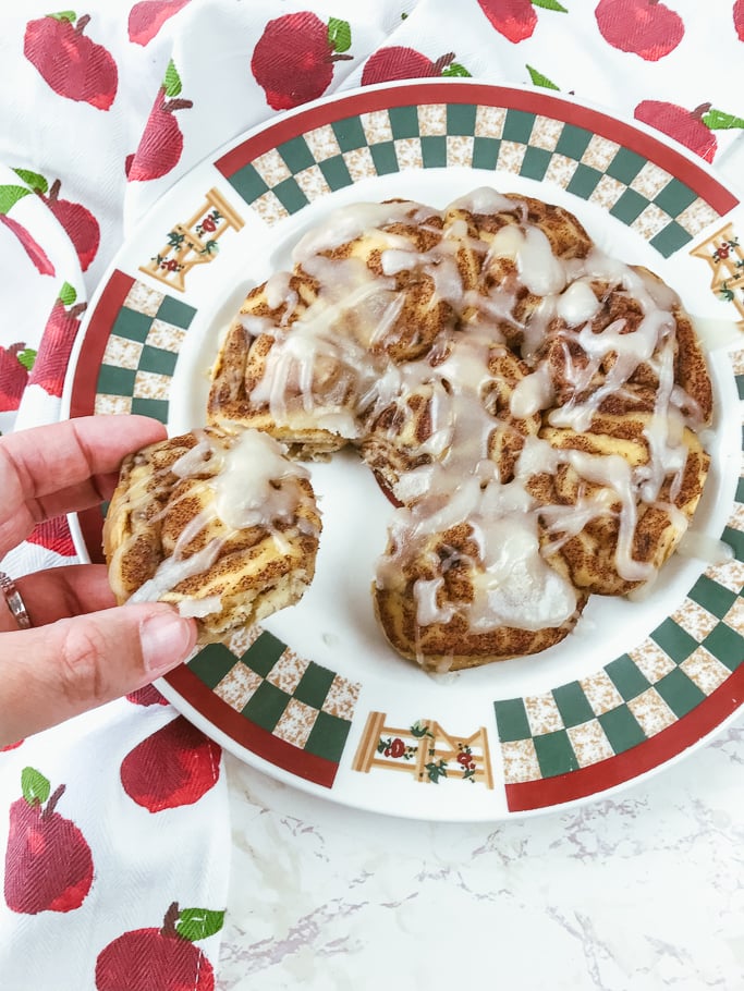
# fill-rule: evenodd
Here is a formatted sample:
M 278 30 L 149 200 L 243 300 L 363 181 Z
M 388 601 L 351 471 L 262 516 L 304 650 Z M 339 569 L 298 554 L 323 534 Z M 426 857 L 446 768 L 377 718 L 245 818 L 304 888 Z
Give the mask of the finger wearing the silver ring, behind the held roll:
M 117 604 L 105 564 L 50 567 L 17 578 L 15 586 L 34 626 Z M 0 597 L 0 633 L 15 629 L 17 624 Z

